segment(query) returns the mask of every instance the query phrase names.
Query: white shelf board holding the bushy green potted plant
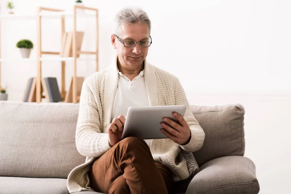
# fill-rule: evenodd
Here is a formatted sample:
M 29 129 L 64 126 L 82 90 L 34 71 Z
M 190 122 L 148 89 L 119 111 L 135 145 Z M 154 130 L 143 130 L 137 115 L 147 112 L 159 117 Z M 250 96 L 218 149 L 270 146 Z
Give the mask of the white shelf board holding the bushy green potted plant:
M 77 58 L 78 61 L 96 60 L 96 58 Z M 40 61 L 74 61 L 73 57 L 42 57 Z M 36 62 L 36 59 L 15 58 L 15 59 L 0 59 L 0 62 Z

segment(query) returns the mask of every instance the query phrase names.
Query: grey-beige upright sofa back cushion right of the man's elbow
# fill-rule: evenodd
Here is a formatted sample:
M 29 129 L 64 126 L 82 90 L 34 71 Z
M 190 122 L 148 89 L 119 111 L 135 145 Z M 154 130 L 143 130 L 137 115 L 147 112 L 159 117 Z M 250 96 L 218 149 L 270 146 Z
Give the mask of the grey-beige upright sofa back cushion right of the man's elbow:
M 244 155 L 244 107 L 241 104 L 191 106 L 191 110 L 205 132 L 202 148 L 193 153 L 199 166 L 223 156 Z

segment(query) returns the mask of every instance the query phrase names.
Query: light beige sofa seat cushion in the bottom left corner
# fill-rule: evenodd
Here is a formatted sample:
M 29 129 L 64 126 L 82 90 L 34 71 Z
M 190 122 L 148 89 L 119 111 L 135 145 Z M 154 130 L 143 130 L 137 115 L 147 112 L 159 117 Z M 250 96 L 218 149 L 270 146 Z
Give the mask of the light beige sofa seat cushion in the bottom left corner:
M 65 178 L 0 177 L 1 194 L 69 194 Z

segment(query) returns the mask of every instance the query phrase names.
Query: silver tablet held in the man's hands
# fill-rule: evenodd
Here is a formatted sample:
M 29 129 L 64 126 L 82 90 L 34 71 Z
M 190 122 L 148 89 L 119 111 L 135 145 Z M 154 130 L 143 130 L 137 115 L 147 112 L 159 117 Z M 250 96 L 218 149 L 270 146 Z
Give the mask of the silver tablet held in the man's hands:
M 173 113 L 184 116 L 186 106 L 148 106 L 148 107 L 129 107 L 122 139 L 126 137 L 139 137 L 142 139 L 165 139 L 161 129 L 163 117 L 168 117 L 176 122 L 178 120 Z

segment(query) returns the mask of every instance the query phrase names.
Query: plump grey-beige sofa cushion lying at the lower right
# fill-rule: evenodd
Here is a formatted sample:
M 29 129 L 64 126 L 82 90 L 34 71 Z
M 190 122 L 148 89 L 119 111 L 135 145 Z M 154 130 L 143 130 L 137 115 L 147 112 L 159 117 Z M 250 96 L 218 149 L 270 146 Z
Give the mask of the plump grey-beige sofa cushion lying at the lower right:
M 213 159 L 201 166 L 186 194 L 258 194 L 255 164 L 242 156 Z

